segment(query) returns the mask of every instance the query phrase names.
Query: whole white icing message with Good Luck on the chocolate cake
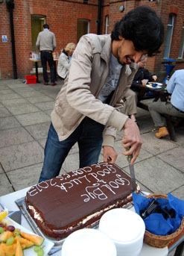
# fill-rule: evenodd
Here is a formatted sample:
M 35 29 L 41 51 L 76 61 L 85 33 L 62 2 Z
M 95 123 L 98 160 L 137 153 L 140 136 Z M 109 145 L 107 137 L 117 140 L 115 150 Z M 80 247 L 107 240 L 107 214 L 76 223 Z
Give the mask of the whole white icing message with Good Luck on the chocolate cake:
M 93 171 L 94 167 L 96 172 Z M 83 197 L 84 202 L 96 199 L 105 200 L 110 193 L 115 195 L 119 187 L 130 185 L 130 181 L 127 178 L 122 177 L 121 174 L 115 174 L 115 172 L 117 172 L 115 167 L 110 163 L 95 163 L 92 166 L 59 175 L 49 181 L 42 181 L 36 186 L 31 187 L 28 194 L 36 196 L 37 193 L 47 190 L 48 187 L 58 187 L 65 193 L 69 193 L 72 188 L 80 187 L 83 184 L 85 186 L 83 189 L 86 190 L 86 193 L 80 196 Z M 112 173 L 115 175 L 111 176 Z

